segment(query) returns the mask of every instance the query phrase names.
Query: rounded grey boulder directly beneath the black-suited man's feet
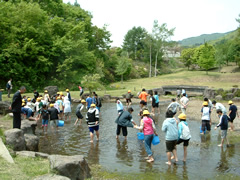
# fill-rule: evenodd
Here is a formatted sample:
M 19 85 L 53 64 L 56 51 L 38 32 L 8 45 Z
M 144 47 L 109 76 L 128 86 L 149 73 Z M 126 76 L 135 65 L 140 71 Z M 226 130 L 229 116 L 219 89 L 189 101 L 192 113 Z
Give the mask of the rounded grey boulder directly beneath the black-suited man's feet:
M 20 129 L 10 129 L 4 132 L 6 144 L 11 146 L 14 151 L 22 151 L 26 149 L 23 131 Z

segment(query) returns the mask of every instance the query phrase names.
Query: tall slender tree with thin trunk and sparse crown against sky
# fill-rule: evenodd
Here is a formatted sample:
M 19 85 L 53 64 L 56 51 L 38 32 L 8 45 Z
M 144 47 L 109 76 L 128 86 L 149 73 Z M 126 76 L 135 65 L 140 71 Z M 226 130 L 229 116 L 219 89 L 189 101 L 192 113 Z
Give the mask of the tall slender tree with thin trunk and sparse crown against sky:
M 175 28 L 168 29 L 167 24 L 163 23 L 161 26 L 158 21 L 155 20 L 153 23 L 152 37 L 154 39 L 154 48 L 156 49 L 155 54 L 155 77 L 157 76 L 157 64 L 160 55 L 163 55 L 163 49 L 167 45 L 168 39 L 173 36 Z

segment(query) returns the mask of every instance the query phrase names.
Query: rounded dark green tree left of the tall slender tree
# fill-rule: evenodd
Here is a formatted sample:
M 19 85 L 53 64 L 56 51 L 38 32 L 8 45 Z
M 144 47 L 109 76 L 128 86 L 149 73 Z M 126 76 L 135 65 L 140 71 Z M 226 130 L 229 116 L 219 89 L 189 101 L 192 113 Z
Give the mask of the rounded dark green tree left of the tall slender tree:
M 142 58 L 146 33 L 147 31 L 139 26 L 133 27 L 125 35 L 123 40 L 123 50 L 129 53 L 130 58 L 134 60 Z

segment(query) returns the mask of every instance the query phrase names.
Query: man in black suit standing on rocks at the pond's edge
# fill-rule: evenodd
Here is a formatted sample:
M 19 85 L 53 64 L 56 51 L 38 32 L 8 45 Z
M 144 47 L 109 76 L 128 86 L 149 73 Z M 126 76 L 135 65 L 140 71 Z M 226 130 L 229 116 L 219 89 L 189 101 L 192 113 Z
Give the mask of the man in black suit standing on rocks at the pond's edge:
M 12 104 L 10 109 L 13 112 L 13 128 L 21 129 L 21 108 L 22 108 L 22 96 L 21 94 L 26 92 L 26 88 L 22 86 L 20 90 L 18 90 L 13 95 Z

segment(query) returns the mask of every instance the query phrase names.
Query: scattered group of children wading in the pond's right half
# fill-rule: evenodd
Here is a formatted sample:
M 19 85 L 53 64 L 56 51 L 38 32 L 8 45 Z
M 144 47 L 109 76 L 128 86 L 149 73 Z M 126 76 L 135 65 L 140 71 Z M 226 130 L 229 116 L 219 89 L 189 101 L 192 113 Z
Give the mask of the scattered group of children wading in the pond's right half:
M 129 93 L 130 91 L 128 91 Z M 154 92 L 155 95 L 157 95 L 157 92 Z M 150 114 L 147 108 L 147 97 L 150 96 L 151 101 L 155 101 L 152 103 L 152 113 Z M 158 96 L 158 95 L 157 95 Z M 123 136 L 126 139 L 127 136 L 127 127 L 134 127 L 136 129 L 139 129 L 140 131 L 143 131 L 144 133 L 144 143 L 145 143 L 145 149 L 148 154 L 147 162 L 153 162 L 154 158 L 151 151 L 151 142 L 153 140 L 154 135 L 157 135 L 156 133 L 156 127 L 154 120 L 151 116 L 154 116 L 154 109 L 159 106 L 154 106 L 153 104 L 159 102 L 159 98 L 153 96 L 152 94 L 147 94 L 146 90 L 143 89 L 142 92 L 139 94 L 140 101 L 140 113 L 139 116 L 141 117 L 140 126 L 137 126 L 136 123 L 132 120 L 132 108 L 130 107 L 130 110 L 123 111 L 123 105 L 118 98 L 116 100 L 117 104 L 117 110 L 119 117 L 115 121 L 117 126 L 117 136 L 119 137 L 120 129 L 123 131 Z M 172 102 L 167 107 L 166 111 L 166 119 L 163 122 L 162 125 L 162 131 L 166 133 L 165 135 L 165 142 L 166 142 L 166 152 L 167 152 L 167 158 L 168 162 L 166 164 L 171 165 L 171 160 L 175 159 L 175 161 L 178 161 L 177 157 L 177 151 L 176 151 L 176 145 L 183 143 L 183 150 L 184 150 L 184 157 L 183 161 L 186 161 L 187 158 L 187 147 L 189 144 L 189 140 L 191 139 L 190 130 L 188 127 L 188 123 L 186 122 L 187 116 L 186 116 L 186 109 L 189 104 L 189 99 L 187 98 L 186 91 L 184 91 L 182 94 L 177 95 L 177 98 L 179 100 L 179 103 L 176 101 L 175 98 L 172 99 Z M 128 105 L 127 99 L 126 104 Z M 211 130 L 211 112 L 212 109 L 216 109 L 216 113 L 219 117 L 219 123 L 214 128 L 215 130 L 218 127 L 221 127 L 221 144 L 218 146 L 223 146 L 224 139 L 227 141 L 227 145 L 229 145 L 228 139 L 227 139 L 227 130 L 228 130 L 228 123 L 230 123 L 229 130 L 233 131 L 233 120 L 236 118 L 236 116 L 239 117 L 237 112 L 237 107 L 233 104 L 232 101 L 229 101 L 228 104 L 229 107 L 229 113 L 227 114 L 226 108 L 221 103 L 217 103 L 216 101 L 211 102 L 209 99 L 204 98 L 204 102 L 202 104 L 201 108 L 201 134 L 204 134 L 206 132 L 209 132 Z M 174 117 L 178 110 L 181 110 L 181 113 L 178 116 L 178 120 Z M 173 154 L 173 156 L 171 156 Z

